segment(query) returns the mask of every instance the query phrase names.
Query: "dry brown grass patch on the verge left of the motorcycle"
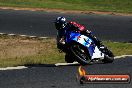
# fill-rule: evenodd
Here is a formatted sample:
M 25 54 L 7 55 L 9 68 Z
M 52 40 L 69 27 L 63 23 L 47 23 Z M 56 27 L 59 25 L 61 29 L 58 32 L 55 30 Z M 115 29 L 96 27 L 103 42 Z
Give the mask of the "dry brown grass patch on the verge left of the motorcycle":
M 53 43 L 55 42 L 52 39 Z M 0 58 L 26 57 L 47 54 L 51 46 L 48 39 L 37 40 L 23 37 L 0 36 Z M 48 49 L 47 51 L 45 51 Z

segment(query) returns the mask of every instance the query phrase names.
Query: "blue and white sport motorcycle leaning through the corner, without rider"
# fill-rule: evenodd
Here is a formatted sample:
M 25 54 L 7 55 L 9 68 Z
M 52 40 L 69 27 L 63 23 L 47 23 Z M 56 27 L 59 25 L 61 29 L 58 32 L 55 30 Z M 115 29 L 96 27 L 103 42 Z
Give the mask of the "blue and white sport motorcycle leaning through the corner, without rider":
M 113 53 L 104 45 L 98 47 L 94 41 L 77 31 L 65 31 L 66 55 L 65 61 L 72 63 L 77 61 L 81 65 L 91 64 L 95 61 L 103 63 L 112 63 L 114 61 Z

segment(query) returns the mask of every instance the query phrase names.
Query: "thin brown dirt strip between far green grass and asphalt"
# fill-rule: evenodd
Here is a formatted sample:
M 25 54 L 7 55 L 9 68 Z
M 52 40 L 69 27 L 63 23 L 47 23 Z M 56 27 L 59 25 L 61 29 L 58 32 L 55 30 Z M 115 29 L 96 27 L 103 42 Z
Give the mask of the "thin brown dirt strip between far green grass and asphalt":
M 116 12 L 101 12 L 101 11 L 77 11 L 77 10 L 63 10 L 63 9 L 49 9 L 49 8 L 21 8 L 21 7 L 0 7 L 6 10 L 30 10 L 30 11 L 46 11 L 46 12 L 59 12 L 59 13 L 76 13 L 76 14 L 100 14 L 100 15 L 120 15 L 132 16 L 129 13 L 116 13 Z

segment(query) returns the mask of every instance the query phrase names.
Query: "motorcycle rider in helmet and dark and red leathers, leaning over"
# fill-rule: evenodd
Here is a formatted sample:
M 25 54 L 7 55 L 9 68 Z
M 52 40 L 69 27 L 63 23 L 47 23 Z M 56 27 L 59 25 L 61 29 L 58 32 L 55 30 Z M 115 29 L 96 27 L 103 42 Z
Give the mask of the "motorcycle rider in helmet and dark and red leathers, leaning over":
M 100 41 L 91 34 L 91 31 L 85 30 L 84 26 L 77 24 L 76 22 L 66 22 L 66 18 L 57 17 L 55 20 L 55 27 L 57 29 L 57 48 L 61 49 L 62 51 L 65 50 L 64 29 L 78 31 L 81 34 L 89 36 L 97 46 L 100 46 Z

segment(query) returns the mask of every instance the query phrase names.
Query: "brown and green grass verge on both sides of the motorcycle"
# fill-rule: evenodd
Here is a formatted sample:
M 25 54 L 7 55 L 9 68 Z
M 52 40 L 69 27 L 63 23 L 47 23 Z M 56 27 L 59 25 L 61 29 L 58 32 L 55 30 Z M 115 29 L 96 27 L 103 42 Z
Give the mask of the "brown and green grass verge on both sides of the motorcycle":
M 104 41 L 117 55 L 132 54 L 132 43 Z M 54 64 L 64 62 L 64 53 L 59 53 L 56 40 L 0 35 L 0 67 L 26 64 Z

